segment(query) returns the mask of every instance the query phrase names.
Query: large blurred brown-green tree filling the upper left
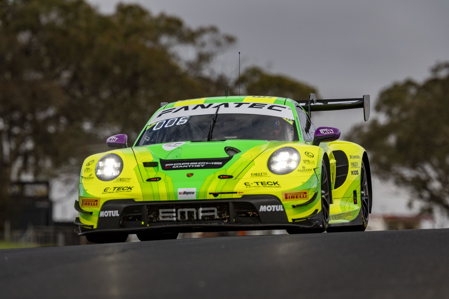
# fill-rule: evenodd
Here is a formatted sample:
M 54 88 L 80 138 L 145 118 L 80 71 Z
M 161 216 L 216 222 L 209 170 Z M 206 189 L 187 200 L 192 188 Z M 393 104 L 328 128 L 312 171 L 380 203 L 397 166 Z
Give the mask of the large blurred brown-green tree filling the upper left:
M 202 74 L 234 38 L 139 5 L 9 0 L 0 41 L 1 213 L 10 180 L 79 171 L 86 144 L 135 138 L 160 102 L 223 94 Z

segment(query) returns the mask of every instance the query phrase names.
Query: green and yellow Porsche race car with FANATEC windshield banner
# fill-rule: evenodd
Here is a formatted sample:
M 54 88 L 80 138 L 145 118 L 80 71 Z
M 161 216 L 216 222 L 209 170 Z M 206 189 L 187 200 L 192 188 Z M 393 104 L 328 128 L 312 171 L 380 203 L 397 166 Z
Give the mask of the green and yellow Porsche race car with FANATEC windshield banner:
M 223 96 L 161 103 L 132 147 L 127 135 L 87 157 L 76 233 L 92 243 L 180 232 L 365 230 L 372 206 L 363 147 L 315 129 L 314 111 L 363 108 L 370 96 L 304 102 Z

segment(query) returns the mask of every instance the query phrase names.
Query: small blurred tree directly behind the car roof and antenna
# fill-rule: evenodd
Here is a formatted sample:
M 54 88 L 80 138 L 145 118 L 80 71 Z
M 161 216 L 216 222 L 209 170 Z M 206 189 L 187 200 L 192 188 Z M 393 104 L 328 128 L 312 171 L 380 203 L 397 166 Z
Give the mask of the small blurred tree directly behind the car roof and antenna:
M 240 83 L 247 95 L 282 96 L 300 101 L 307 100 L 310 93 L 315 93 L 319 98 L 315 87 L 284 74 L 270 74 L 256 66 L 243 71 Z M 238 87 L 234 85 L 233 91 L 237 90 Z

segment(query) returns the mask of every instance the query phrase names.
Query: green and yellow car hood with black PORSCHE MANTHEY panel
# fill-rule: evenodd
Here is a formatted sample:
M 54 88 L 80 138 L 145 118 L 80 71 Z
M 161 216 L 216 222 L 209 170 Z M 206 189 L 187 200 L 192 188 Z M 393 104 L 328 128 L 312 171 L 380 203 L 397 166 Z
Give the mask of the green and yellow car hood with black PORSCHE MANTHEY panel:
M 178 142 L 132 147 L 143 181 L 176 174 L 195 173 L 196 178 L 212 174 L 232 175 L 237 178 L 257 156 L 271 147 L 287 141 L 225 140 L 213 142 Z M 229 156 L 225 148 L 233 147 L 238 153 Z M 148 162 L 158 162 L 148 163 Z

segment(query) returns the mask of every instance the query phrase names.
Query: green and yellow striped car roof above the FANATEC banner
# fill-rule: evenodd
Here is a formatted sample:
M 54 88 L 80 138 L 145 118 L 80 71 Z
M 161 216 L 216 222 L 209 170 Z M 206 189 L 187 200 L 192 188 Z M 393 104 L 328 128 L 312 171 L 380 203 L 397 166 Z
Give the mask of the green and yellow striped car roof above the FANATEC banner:
M 257 96 L 257 95 L 235 95 L 235 96 L 216 96 L 209 98 L 198 98 L 189 100 L 180 100 L 174 103 L 167 104 L 164 108 L 172 108 L 184 105 L 207 104 L 207 103 L 227 103 L 227 102 L 256 102 L 269 104 L 285 105 L 286 98 L 277 96 Z

